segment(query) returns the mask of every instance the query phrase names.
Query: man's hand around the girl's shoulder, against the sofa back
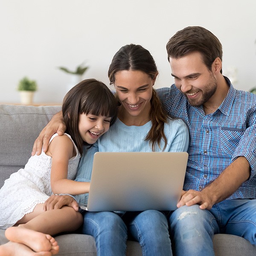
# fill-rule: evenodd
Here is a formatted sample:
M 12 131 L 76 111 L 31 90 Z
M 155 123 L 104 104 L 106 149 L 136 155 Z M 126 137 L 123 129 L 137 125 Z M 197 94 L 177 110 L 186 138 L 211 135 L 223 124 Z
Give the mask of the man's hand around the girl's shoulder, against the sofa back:
M 35 140 L 31 155 L 40 155 L 42 152 L 42 147 L 43 151 L 46 152 L 49 140 L 52 137 L 52 135 L 55 134 L 56 132 L 58 133 L 58 135 L 63 135 L 65 131 L 66 125 L 63 120 L 62 112 L 60 111 L 54 116 L 52 116 L 50 122 L 44 127 L 44 129 L 41 131 L 41 133 Z

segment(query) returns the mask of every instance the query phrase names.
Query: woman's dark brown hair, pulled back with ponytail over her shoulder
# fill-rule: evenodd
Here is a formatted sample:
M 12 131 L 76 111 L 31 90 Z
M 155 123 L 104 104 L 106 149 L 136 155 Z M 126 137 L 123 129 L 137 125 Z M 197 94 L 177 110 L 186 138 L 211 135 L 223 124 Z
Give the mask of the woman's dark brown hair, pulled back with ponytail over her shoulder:
M 140 70 L 148 74 L 151 79 L 154 79 L 158 73 L 154 58 L 150 52 L 141 45 L 135 44 L 128 44 L 121 47 L 114 55 L 108 70 L 110 84 L 115 83 L 115 74 L 121 70 Z M 160 142 L 161 140 L 164 140 L 165 145 L 162 149 L 164 150 L 167 145 L 167 139 L 164 134 L 164 124 L 167 122 L 169 116 L 163 110 L 161 102 L 154 89 L 150 102 L 152 127 L 145 137 L 145 140 L 149 140 L 151 143 L 152 151 L 154 151 L 156 143 L 160 148 Z

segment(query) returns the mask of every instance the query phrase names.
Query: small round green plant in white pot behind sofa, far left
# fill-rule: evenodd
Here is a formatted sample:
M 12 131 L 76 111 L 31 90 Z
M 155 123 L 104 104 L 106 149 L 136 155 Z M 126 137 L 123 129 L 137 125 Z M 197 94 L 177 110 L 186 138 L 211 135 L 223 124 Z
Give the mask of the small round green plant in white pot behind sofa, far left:
M 35 80 L 30 80 L 27 76 L 19 81 L 17 90 L 20 91 L 20 103 L 29 105 L 32 104 L 34 93 L 38 89 Z

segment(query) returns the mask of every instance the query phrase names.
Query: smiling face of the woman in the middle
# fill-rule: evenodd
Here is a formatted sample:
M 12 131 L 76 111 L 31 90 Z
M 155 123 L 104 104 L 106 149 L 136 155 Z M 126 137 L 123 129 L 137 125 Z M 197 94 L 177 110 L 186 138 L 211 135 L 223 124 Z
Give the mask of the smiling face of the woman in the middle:
M 157 74 L 156 74 L 157 76 Z M 156 79 L 140 70 L 121 70 L 115 74 L 116 94 L 123 109 L 130 116 L 147 117 Z

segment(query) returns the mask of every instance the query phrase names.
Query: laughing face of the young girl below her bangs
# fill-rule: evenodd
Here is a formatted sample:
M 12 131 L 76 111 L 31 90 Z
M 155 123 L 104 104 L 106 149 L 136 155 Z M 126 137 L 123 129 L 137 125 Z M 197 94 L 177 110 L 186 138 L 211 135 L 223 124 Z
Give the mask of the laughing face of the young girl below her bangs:
M 109 116 L 80 114 L 78 129 L 82 139 L 88 144 L 95 143 L 102 134 L 108 131 L 110 120 L 111 117 Z

